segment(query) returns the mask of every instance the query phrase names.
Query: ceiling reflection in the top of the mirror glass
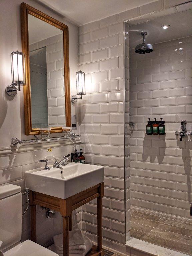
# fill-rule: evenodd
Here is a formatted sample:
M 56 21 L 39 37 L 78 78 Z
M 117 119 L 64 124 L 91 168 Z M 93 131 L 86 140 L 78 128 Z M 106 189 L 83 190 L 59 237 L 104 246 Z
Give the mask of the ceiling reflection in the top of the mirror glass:
M 63 33 L 49 23 L 28 14 L 29 44 Z

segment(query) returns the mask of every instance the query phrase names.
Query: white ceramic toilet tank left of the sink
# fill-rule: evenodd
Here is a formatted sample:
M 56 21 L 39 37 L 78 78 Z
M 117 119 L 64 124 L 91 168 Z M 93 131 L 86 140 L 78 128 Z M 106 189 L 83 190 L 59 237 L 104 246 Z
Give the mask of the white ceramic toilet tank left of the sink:
M 21 232 L 21 187 L 12 184 L 0 186 L 0 240 L 3 241 L 1 250 L 19 242 Z

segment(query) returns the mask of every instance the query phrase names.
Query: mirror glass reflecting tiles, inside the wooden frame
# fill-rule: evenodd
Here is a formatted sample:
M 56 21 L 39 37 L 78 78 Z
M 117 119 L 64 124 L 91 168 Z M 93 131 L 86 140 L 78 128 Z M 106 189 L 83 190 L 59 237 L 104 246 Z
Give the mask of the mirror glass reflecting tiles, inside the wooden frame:
M 28 14 L 32 128 L 66 125 L 63 31 Z

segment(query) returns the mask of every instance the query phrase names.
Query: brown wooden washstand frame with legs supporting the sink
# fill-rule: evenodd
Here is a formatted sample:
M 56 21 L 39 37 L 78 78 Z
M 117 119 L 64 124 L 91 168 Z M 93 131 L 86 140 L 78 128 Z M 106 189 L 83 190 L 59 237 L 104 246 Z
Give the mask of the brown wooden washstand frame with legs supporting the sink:
M 31 240 L 37 242 L 36 205 L 58 211 L 63 216 L 63 256 L 69 256 L 69 231 L 72 229 L 72 211 L 97 198 L 97 247 L 93 246 L 86 256 L 104 256 L 102 248 L 102 197 L 104 183 L 88 188 L 66 199 L 30 191 Z

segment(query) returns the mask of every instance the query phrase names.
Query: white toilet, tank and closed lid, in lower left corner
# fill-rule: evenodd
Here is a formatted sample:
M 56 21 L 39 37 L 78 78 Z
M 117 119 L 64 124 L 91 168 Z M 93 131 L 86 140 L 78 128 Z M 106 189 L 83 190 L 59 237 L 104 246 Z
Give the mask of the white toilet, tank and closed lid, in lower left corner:
M 0 250 L 4 256 L 58 256 L 30 240 L 20 242 L 22 233 L 22 194 L 16 185 L 0 186 Z

